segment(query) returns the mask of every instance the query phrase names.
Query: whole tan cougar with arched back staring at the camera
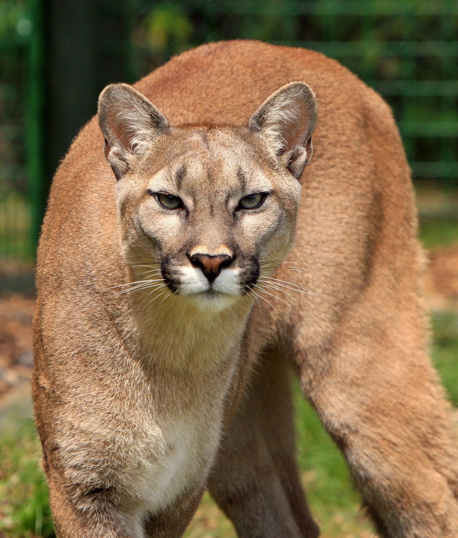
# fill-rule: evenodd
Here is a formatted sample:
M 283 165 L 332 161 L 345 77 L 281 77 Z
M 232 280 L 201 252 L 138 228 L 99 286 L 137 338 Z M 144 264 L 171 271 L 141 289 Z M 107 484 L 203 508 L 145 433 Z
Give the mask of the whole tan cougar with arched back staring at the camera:
M 339 63 L 231 41 L 105 88 L 38 250 L 57 535 L 178 537 L 207 488 L 242 538 L 318 536 L 292 366 L 379 535 L 456 538 L 422 266 L 391 111 Z

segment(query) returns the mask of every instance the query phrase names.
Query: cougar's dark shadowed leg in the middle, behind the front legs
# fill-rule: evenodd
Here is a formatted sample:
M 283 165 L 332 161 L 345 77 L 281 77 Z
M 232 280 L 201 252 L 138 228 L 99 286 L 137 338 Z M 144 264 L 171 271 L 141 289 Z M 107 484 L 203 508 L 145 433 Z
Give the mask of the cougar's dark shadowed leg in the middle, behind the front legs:
M 286 361 L 271 352 L 242 397 L 209 491 L 241 538 L 316 538 L 294 455 Z

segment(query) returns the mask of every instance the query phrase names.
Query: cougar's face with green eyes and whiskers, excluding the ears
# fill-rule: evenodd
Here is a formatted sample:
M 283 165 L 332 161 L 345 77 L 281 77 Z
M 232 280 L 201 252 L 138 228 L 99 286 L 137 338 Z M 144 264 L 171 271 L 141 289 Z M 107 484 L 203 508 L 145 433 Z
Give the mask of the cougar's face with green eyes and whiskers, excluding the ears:
M 248 129 L 172 130 L 118 182 L 124 253 L 161 292 L 224 308 L 291 249 L 299 198 Z

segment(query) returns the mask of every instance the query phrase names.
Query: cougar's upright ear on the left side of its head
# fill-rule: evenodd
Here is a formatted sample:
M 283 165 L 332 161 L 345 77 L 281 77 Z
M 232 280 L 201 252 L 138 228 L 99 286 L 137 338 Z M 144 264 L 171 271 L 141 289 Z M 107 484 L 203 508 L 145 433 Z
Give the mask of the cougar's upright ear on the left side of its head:
M 129 84 L 110 84 L 98 98 L 98 125 L 103 148 L 117 179 L 129 171 L 154 137 L 169 130 L 167 118 Z

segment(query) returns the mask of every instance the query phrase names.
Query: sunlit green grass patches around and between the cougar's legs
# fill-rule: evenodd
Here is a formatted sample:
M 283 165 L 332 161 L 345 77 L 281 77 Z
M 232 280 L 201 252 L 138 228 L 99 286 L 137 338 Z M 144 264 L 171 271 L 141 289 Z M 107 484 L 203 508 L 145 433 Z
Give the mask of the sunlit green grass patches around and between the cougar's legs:
M 458 238 L 458 222 L 424 220 L 420 237 L 428 248 Z M 433 316 L 433 359 L 453 404 L 458 406 L 458 314 Z M 374 530 L 360 511 L 360 497 L 347 466 L 311 407 L 295 386 L 298 460 L 309 504 L 326 538 L 370 538 Z M 52 538 L 47 489 L 38 466 L 39 443 L 32 420 L 0 436 L 0 538 Z M 230 522 L 208 494 L 186 538 L 234 538 Z

